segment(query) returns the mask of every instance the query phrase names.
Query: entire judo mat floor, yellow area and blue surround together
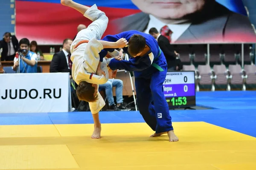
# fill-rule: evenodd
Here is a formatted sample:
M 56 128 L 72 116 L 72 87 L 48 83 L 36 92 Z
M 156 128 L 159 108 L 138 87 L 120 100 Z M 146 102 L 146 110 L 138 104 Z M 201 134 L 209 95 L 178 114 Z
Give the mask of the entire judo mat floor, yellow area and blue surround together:
M 256 170 L 256 91 L 197 92 L 206 110 L 170 111 L 179 142 L 136 111 L 0 114 L 0 170 Z

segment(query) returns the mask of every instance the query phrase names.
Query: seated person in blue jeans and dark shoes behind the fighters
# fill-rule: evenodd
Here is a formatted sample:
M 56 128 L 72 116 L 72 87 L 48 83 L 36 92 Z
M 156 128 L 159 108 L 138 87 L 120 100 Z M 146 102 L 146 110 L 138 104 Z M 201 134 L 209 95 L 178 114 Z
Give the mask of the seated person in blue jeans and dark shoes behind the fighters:
M 109 77 L 111 77 L 112 71 L 109 71 Z M 116 104 L 114 102 L 114 97 L 113 97 L 113 87 L 116 87 Z M 128 109 L 125 107 L 123 103 L 123 96 L 122 96 L 122 91 L 123 91 L 123 82 L 120 79 L 109 79 L 108 82 L 106 82 L 103 85 L 99 85 L 99 91 L 105 90 L 106 97 L 108 99 L 108 105 L 109 109 L 114 110 L 114 111 L 129 111 L 131 109 Z

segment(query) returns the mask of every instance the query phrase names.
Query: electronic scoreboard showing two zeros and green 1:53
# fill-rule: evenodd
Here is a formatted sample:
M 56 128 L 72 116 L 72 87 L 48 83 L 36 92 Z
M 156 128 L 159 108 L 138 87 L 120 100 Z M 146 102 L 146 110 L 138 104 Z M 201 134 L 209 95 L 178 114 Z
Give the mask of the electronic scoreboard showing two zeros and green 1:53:
M 163 91 L 169 108 L 195 106 L 195 71 L 167 72 Z

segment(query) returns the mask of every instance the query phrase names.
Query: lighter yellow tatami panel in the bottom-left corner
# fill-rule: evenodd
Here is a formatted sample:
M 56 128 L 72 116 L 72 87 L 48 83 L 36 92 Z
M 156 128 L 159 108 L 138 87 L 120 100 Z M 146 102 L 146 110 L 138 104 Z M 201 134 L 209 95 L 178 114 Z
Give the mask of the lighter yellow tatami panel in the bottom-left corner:
M 0 169 L 78 168 L 66 145 L 0 146 Z

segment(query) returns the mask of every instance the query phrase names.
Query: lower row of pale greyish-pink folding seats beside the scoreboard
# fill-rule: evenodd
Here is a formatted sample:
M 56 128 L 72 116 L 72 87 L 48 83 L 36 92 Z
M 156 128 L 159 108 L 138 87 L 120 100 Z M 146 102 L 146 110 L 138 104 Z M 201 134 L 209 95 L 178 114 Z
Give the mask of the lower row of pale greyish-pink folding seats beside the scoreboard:
M 227 85 L 227 91 L 230 91 L 230 85 L 241 85 L 241 90 L 246 90 L 246 85 L 256 85 L 256 65 L 183 65 L 183 71 L 195 71 L 196 90 L 200 91 L 199 85 L 211 85 L 211 90 L 215 91 L 215 85 Z

